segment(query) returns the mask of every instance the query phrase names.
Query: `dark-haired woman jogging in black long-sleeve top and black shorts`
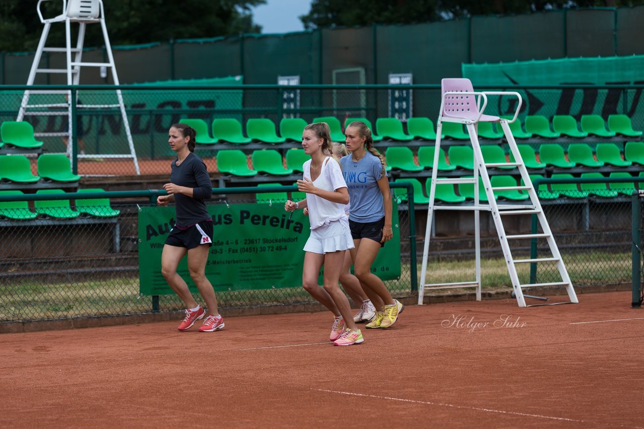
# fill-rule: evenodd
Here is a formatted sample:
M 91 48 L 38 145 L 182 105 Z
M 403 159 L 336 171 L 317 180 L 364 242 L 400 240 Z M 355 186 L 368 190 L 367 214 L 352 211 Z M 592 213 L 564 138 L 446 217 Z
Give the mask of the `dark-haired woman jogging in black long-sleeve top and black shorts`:
M 167 196 L 156 199 L 158 205 L 175 202 L 176 221 L 167 237 L 161 256 L 161 272 L 167 284 L 184 301 L 185 318 L 178 326 L 186 331 L 206 315 L 204 307 L 197 304 L 185 280 L 176 273 L 179 261 L 188 255 L 188 270 L 209 310 L 200 332 L 223 328 L 223 318 L 217 310 L 213 285 L 205 277 L 205 264 L 210 246 L 213 245 L 213 219 L 208 214 L 204 199 L 212 196 L 212 184 L 204 161 L 194 154 L 196 132 L 185 123 L 175 123 L 170 128 L 168 143 L 176 152 L 172 163 L 170 183 L 164 185 Z

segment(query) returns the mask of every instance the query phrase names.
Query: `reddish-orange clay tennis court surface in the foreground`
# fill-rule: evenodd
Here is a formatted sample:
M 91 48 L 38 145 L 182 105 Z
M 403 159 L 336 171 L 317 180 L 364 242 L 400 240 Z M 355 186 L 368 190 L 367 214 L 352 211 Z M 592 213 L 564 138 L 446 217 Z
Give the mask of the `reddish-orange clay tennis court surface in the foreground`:
M 321 312 L 3 334 L 0 426 L 641 427 L 630 300 L 407 306 L 351 347 L 326 341 Z

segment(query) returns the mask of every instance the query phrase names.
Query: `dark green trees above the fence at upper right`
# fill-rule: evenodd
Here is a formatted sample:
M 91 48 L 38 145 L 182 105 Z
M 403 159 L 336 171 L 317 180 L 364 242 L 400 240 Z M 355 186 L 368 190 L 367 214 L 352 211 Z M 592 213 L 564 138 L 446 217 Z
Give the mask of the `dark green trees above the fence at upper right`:
M 299 17 L 305 28 L 412 24 L 444 21 L 471 15 L 529 14 L 540 10 L 644 5 L 644 0 L 313 0 L 307 15 Z

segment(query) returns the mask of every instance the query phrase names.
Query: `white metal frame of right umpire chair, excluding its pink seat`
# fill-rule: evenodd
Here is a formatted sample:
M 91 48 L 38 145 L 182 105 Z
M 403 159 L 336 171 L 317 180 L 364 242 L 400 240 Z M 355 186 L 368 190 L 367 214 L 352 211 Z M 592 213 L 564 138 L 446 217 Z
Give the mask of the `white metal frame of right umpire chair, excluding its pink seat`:
M 424 298 L 424 292 L 432 289 L 450 289 L 450 288 L 477 288 L 476 299 L 480 301 L 481 299 L 481 270 L 480 270 L 480 223 L 479 223 L 479 214 L 481 210 L 486 210 L 491 212 L 494 224 L 497 228 L 498 239 L 501 243 L 501 248 L 503 251 L 504 258 L 506 260 L 507 270 L 510 275 L 512 282 L 512 288 L 514 295 L 516 297 L 516 302 L 519 307 L 527 307 L 526 297 L 523 293 L 525 288 L 537 288 L 537 287 L 554 287 L 554 286 L 564 286 L 567 290 L 568 297 L 571 303 L 578 303 L 576 294 L 574 292 L 573 284 L 571 283 L 568 272 L 565 268 L 564 261 L 559 253 L 556 242 L 554 242 L 553 233 L 550 230 L 549 224 L 545 219 L 544 210 L 539 202 L 538 196 L 536 194 L 535 188 L 532 185 L 531 179 L 529 178 L 526 165 L 521 158 L 521 154 L 516 147 L 516 141 L 512 132 L 509 128 L 509 123 L 516 120 L 519 109 L 522 104 L 521 96 L 515 92 L 498 92 L 498 91 L 486 91 L 485 93 L 475 93 L 471 92 L 471 95 L 477 96 L 477 105 L 480 105 L 480 100 L 483 99 L 484 103 L 478 118 L 483 115 L 482 112 L 485 109 L 487 104 L 487 95 L 514 95 L 518 97 L 518 106 L 516 107 L 515 116 L 512 120 L 507 120 L 503 118 L 498 118 L 497 121 L 500 123 L 509 149 L 514 156 L 514 162 L 504 162 L 504 163 L 486 163 L 483 159 L 482 152 L 480 149 L 480 144 L 478 142 L 478 132 L 477 124 L 478 118 L 475 119 L 457 119 L 444 116 L 443 114 L 443 103 L 445 95 L 450 95 L 449 92 L 444 93 L 443 102 L 441 103 L 441 115 L 437 123 L 437 138 L 436 138 L 436 147 L 434 155 L 434 165 L 431 172 L 431 189 L 430 189 L 430 203 L 428 207 L 427 214 L 427 225 L 425 231 L 425 242 L 422 253 L 422 269 L 421 269 L 421 281 L 419 281 L 419 298 L 418 304 L 421 305 Z M 438 179 L 438 162 L 439 162 L 439 150 L 440 150 L 440 134 L 442 132 L 442 122 L 459 122 L 464 123 L 468 129 L 469 138 L 471 141 L 472 149 L 474 152 L 474 174 L 473 178 L 444 178 Z M 490 178 L 488 174 L 489 167 L 515 167 L 518 169 L 518 172 L 523 179 L 524 185 L 513 186 L 513 187 L 492 187 L 490 183 Z M 479 202 L 478 195 L 478 176 L 480 174 L 480 180 L 482 186 L 485 189 L 486 196 L 488 197 L 488 205 L 482 205 Z M 474 205 L 457 205 L 457 206 L 446 206 L 446 205 L 435 205 L 435 191 L 436 185 L 439 183 L 472 183 L 474 187 Z M 494 192 L 496 190 L 522 190 L 527 192 L 529 195 L 530 204 L 497 204 L 497 201 L 494 197 Z M 527 201 L 527 200 L 526 200 Z M 431 236 L 431 226 L 433 222 L 433 215 L 435 210 L 473 210 L 475 213 L 475 257 L 476 257 L 476 279 L 473 282 L 453 282 L 453 283 L 426 283 L 426 275 L 428 271 L 428 257 L 429 257 L 429 248 L 430 248 L 430 236 Z M 538 224 L 541 227 L 540 233 L 522 233 L 522 234 L 513 234 L 507 235 L 504 229 L 502 222 L 503 217 L 516 216 L 516 215 L 536 215 Z M 514 259 L 511 251 L 511 242 L 516 242 L 519 239 L 545 239 L 551 251 L 551 257 L 536 258 L 536 259 Z M 561 281 L 560 282 L 545 282 L 545 283 L 534 283 L 534 284 L 521 284 L 519 282 L 516 264 L 536 264 L 538 262 L 556 262 L 557 269 L 559 271 Z M 564 303 L 559 303 L 564 304 Z

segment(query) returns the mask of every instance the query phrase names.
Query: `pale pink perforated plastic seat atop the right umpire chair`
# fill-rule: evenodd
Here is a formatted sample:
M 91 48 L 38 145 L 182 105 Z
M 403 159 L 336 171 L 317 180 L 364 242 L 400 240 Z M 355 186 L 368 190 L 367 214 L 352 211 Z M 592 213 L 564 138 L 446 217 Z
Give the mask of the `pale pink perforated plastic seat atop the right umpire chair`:
M 440 81 L 442 89 L 442 116 L 447 120 L 460 119 L 473 122 L 498 122 L 498 116 L 481 114 L 478 111 L 477 96 L 483 99 L 482 110 L 488 104 L 488 97 L 484 93 L 474 92 L 472 82 L 467 78 L 444 78 Z M 467 93 L 466 95 L 448 94 L 450 92 Z

